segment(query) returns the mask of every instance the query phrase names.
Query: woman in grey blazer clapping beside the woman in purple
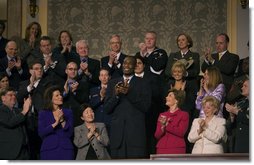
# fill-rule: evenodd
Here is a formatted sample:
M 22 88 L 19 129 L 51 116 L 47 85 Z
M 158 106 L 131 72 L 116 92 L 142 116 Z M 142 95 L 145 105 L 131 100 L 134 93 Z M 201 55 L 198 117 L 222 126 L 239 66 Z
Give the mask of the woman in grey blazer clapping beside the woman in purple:
M 95 123 L 94 112 L 87 104 L 81 105 L 84 123 L 74 129 L 74 144 L 78 148 L 76 160 L 110 159 L 107 151 L 109 138 L 104 123 Z

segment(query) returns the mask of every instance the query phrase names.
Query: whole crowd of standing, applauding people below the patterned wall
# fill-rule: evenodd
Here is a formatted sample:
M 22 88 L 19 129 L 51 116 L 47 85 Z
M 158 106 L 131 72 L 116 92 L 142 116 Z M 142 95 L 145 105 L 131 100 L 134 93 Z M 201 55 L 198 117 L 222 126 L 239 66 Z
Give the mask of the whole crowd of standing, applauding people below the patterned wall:
M 99 60 L 89 57 L 87 40 L 74 44 L 68 30 L 53 47 L 37 22 L 21 40 L 26 49 L 5 39 L 0 52 L 0 145 L 9 146 L 0 148 L 0 159 L 249 153 L 249 80 L 242 81 L 240 100 L 228 102 L 239 56 L 228 51 L 225 33 L 203 63 L 186 33 L 169 55 L 156 45 L 154 31 L 134 55 L 122 52 L 124 41 L 114 34 Z M 13 145 L 12 136 L 21 141 Z

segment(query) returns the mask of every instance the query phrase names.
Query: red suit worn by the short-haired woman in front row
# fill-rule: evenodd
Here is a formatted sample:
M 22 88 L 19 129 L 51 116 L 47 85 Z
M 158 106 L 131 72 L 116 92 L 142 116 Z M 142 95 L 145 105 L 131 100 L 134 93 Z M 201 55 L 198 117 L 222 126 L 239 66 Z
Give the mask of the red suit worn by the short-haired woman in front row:
M 170 120 L 164 132 L 161 129 L 161 123 L 157 121 L 157 128 L 154 134 L 158 140 L 156 154 L 185 154 L 184 135 L 188 129 L 189 114 L 178 109 L 174 113 L 167 111 L 160 115 L 164 115 Z

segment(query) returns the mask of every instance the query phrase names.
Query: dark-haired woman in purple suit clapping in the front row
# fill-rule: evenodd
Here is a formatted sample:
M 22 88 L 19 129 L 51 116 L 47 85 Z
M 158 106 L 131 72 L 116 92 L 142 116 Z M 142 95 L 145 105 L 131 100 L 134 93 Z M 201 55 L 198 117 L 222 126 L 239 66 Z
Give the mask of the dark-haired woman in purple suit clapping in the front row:
M 38 134 L 42 138 L 42 160 L 72 160 L 73 115 L 70 109 L 62 108 L 63 97 L 57 86 L 46 89 L 45 106 L 39 112 Z

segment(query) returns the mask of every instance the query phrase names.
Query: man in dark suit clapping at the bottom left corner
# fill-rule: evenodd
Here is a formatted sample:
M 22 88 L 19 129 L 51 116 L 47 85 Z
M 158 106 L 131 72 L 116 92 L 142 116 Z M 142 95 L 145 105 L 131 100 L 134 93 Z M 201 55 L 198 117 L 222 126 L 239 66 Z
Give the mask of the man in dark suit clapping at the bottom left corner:
M 0 159 L 29 159 L 27 135 L 25 130 L 26 114 L 31 106 L 31 98 L 24 101 L 23 110 L 14 107 L 16 92 L 12 88 L 0 93 Z

